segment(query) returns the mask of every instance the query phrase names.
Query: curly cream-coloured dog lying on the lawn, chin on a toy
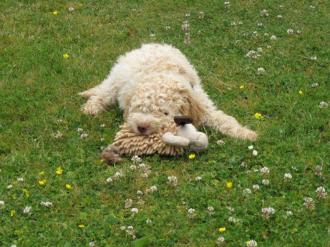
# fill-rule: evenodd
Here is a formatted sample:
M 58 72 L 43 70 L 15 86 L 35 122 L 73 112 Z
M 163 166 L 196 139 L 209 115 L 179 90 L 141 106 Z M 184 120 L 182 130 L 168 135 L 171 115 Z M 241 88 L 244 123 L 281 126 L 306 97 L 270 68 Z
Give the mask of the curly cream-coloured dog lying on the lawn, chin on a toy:
M 174 116 L 188 116 L 239 139 L 256 140 L 256 132 L 218 110 L 201 86 L 188 59 L 166 44 L 145 44 L 119 57 L 108 77 L 80 93 L 88 98 L 82 110 L 96 115 L 118 101 L 124 119 L 138 134 L 156 132 Z

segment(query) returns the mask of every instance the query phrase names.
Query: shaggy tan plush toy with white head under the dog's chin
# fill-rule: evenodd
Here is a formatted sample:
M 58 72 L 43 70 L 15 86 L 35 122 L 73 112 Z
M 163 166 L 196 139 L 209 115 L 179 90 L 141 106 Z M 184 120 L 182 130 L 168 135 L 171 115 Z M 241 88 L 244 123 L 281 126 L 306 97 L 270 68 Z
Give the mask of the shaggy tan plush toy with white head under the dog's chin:
M 184 153 L 185 149 L 201 151 L 208 145 L 207 136 L 198 132 L 185 117 L 175 117 L 173 122 L 164 124 L 159 132 L 140 135 L 127 124 L 120 126 L 114 142 L 101 154 L 103 161 L 112 165 L 121 161 L 121 155 L 169 155 Z

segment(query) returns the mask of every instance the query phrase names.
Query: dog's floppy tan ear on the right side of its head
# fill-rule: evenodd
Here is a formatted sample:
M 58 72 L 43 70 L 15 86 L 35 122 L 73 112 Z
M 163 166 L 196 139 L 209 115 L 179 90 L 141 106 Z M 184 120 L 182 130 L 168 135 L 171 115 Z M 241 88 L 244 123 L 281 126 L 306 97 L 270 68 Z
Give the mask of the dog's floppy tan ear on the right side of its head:
M 196 126 L 202 124 L 202 119 L 205 114 L 205 110 L 202 105 L 194 97 L 194 93 L 191 90 L 184 90 L 184 104 L 181 107 L 181 114 L 188 116 L 192 119 L 192 123 Z

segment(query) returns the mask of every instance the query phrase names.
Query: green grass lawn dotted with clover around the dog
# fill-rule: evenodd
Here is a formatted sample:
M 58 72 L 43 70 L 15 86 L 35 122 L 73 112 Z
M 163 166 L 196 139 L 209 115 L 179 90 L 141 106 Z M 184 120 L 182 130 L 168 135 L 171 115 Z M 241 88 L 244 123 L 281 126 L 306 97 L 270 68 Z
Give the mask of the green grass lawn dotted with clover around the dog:
M 258 246 L 330 245 L 329 199 L 315 192 L 329 189 L 330 113 L 319 108 L 330 99 L 329 1 L 231 1 L 226 8 L 215 0 L 2 0 L 0 8 L 0 246 L 215 246 L 220 235 L 234 247 L 250 239 Z M 263 9 L 268 17 L 260 15 Z M 115 167 L 100 164 L 100 148 L 113 140 L 121 112 L 113 107 L 85 116 L 77 93 L 101 82 L 120 54 L 147 42 L 170 43 L 187 55 L 219 108 L 260 133 L 253 144 L 258 156 L 248 150 L 251 143 L 206 129 L 210 146 L 195 160 L 143 158 L 151 167 L 148 178 L 129 169 L 129 158 Z M 245 56 L 258 47 L 258 59 Z M 257 75 L 258 67 L 266 73 Z M 77 128 L 88 137 L 81 139 Z M 62 138 L 53 137 L 57 131 Z M 225 145 L 217 145 L 219 139 Z M 59 166 L 62 175 L 55 174 Z M 261 183 L 263 166 L 270 169 L 268 186 Z M 315 175 L 316 166 L 323 167 L 322 176 Z M 125 176 L 107 184 L 119 170 Z M 285 173 L 291 181 L 284 181 Z M 176 187 L 167 184 L 170 175 Z M 245 196 L 253 184 L 260 190 Z M 157 192 L 138 198 L 137 190 L 152 185 Z M 304 197 L 314 199 L 314 210 L 303 205 Z M 129 198 L 139 209 L 135 216 L 124 208 Z M 23 213 L 26 206 L 30 215 Z M 268 220 L 265 207 L 276 210 Z M 189 208 L 195 217 L 188 217 Z M 230 216 L 238 222 L 230 223 Z M 135 241 L 120 229 L 130 225 Z

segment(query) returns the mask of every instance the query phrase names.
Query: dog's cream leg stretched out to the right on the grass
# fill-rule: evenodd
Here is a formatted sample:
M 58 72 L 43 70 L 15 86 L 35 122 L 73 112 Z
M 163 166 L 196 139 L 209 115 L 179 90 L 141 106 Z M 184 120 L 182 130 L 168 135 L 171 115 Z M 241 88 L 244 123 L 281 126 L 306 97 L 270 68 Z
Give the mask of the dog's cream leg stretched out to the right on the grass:
M 256 132 L 242 126 L 234 117 L 218 110 L 200 86 L 194 88 L 194 93 L 195 100 L 203 109 L 203 124 L 233 138 L 252 141 L 257 139 Z

